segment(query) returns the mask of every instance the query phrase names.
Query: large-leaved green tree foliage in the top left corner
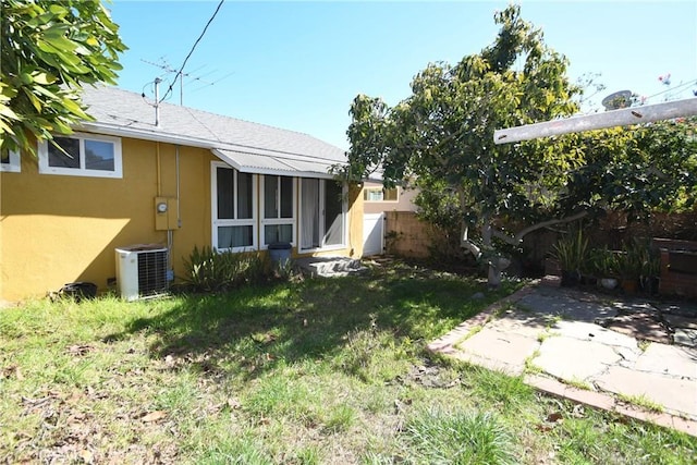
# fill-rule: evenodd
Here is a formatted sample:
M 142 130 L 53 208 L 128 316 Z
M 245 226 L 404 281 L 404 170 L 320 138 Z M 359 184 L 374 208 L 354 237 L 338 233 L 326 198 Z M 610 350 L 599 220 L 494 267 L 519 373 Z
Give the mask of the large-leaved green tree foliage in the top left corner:
M 33 138 L 90 120 L 80 89 L 115 84 L 126 47 L 98 0 L 0 1 L 0 149 L 35 154 Z

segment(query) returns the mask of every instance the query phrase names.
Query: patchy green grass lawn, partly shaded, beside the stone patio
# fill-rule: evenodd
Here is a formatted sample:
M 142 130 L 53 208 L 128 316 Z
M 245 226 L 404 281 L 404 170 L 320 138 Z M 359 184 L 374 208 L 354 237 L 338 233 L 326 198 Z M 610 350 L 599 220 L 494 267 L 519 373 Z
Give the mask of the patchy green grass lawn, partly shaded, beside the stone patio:
M 401 265 L 0 310 L 0 463 L 694 463 L 695 438 L 426 352 L 517 285 Z

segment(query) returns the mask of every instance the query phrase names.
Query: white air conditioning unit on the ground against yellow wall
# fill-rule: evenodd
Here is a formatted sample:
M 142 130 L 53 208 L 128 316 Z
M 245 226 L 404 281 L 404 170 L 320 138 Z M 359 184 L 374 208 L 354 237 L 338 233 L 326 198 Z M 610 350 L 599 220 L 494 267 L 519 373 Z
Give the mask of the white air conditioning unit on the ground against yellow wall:
M 159 244 L 137 244 L 115 252 L 121 298 L 137 301 L 167 292 L 167 248 Z

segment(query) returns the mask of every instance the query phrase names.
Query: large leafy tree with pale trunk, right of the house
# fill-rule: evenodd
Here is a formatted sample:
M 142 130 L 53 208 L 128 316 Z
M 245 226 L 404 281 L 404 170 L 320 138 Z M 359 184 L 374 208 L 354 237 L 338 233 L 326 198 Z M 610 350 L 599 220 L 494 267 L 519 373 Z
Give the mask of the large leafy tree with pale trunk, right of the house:
M 496 13 L 494 21 L 501 28 L 491 46 L 454 66 L 429 64 L 414 77 L 412 95 L 395 107 L 364 95 L 354 99 L 351 168 L 344 173 L 359 180 L 381 169 L 388 184 L 414 176 L 424 191 L 455 196 L 462 245 L 485 256 L 492 283 L 506 265 L 493 238 L 519 242 L 498 221 L 534 219 L 540 207 L 550 212 L 548 192 L 565 183 L 564 172 L 578 158 L 538 142 L 527 149 L 497 146 L 493 132 L 572 114 L 580 91 L 566 77 L 566 59 L 521 19 L 519 7 Z M 570 219 L 554 221 L 560 220 Z M 470 237 L 472 227 L 480 232 L 479 244 Z

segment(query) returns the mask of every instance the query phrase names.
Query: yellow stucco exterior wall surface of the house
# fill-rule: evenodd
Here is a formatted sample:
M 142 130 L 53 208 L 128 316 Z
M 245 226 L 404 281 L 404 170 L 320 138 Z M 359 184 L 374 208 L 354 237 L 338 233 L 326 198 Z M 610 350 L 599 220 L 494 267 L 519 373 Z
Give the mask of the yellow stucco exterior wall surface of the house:
M 167 244 L 167 231 L 155 229 L 154 201 L 176 197 L 175 147 L 123 138 L 122 157 L 122 179 L 39 174 L 28 156 L 20 173 L 0 173 L 0 299 L 44 296 L 75 281 L 105 291 L 115 278 L 114 248 Z M 178 277 L 194 245 L 211 245 L 215 159 L 206 149 L 180 148 L 181 228 L 171 253 Z M 363 197 L 353 189 L 347 201 L 348 243 L 331 254 L 360 256 Z

